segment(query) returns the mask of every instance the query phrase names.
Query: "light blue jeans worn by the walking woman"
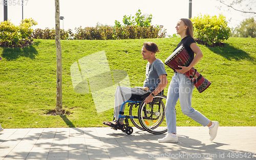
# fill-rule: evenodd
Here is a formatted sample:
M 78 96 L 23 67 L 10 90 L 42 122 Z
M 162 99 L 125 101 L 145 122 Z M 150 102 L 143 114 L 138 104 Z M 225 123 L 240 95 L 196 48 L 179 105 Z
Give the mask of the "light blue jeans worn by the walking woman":
M 165 117 L 168 128 L 168 133 L 176 134 L 176 109 L 178 99 L 180 99 L 180 106 L 182 112 L 195 120 L 199 124 L 206 126 L 210 120 L 202 115 L 199 111 L 191 107 L 192 93 L 195 85 L 185 75 L 175 73 L 170 82 L 167 100 L 165 105 Z

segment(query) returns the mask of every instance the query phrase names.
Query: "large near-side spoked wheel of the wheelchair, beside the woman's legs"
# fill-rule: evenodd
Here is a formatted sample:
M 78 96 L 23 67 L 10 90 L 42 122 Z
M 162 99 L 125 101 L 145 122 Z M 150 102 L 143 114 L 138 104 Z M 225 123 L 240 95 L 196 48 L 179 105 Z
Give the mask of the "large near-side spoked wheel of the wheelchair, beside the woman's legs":
M 166 96 L 161 95 L 155 96 L 147 105 L 141 103 L 138 111 L 139 122 L 146 131 L 153 134 L 162 134 L 167 131 L 165 103 Z

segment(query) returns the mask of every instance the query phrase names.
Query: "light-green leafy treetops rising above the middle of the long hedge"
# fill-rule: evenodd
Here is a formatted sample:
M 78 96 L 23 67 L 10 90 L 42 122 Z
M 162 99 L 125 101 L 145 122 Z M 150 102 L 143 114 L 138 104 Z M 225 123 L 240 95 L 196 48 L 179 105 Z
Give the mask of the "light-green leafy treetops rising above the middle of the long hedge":
M 124 15 L 123 24 L 124 26 L 140 26 L 140 27 L 150 27 L 152 20 L 152 14 L 149 16 L 142 15 L 141 10 L 139 9 L 135 16 Z M 121 23 L 118 20 L 115 20 L 115 27 L 121 27 Z

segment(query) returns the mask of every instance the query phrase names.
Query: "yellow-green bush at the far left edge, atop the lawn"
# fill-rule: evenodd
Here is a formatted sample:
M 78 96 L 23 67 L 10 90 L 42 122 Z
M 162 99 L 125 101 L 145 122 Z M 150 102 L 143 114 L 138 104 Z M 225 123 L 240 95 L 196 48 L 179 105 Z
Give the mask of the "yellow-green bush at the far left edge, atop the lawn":
M 24 19 L 19 26 L 12 24 L 10 20 L 0 23 L 0 45 L 5 47 L 23 47 L 25 43 L 31 44 L 32 26 L 37 25 L 33 19 Z

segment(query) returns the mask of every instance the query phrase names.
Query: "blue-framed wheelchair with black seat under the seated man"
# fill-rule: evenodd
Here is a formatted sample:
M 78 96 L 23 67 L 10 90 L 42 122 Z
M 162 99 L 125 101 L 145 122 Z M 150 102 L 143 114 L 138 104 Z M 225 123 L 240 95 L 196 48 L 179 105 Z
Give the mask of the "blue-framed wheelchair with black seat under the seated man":
M 144 95 L 132 95 L 128 101 L 123 102 L 121 109 L 127 103 L 129 107 L 129 115 L 124 115 L 124 111 L 119 112 L 118 121 L 120 118 L 124 118 L 124 130 L 126 134 L 132 134 L 133 128 L 129 125 L 129 119 L 132 124 L 140 129 L 145 130 L 153 134 L 162 134 L 167 131 L 165 123 L 165 103 L 166 96 L 163 95 L 163 90 L 153 98 L 153 101 L 145 104 L 144 99 L 151 93 Z M 115 118 L 114 118 L 115 119 Z M 162 124 L 162 122 L 164 122 Z M 117 127 L 112 129 L 117 130 Z

